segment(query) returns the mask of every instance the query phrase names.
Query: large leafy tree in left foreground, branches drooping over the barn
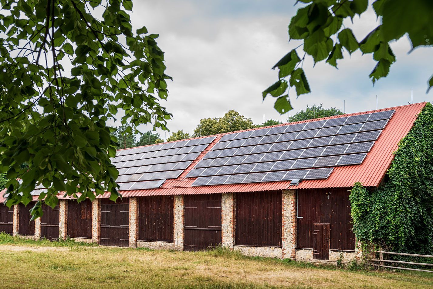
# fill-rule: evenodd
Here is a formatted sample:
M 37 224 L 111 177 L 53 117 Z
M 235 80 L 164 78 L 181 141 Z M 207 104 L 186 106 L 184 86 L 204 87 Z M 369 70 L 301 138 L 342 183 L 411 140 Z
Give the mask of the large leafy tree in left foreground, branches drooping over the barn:
M 146 27 L 133 32 L 131 0 L 0 0 L 0 173 L 7 206 L 32 200 L 54 207 L 65 192 L 78 201 L 111 193 L 118 171 L 107 120 L 166 129 L 164 53 Z M 119 117 L 117 112 L 122 110 Z M 23 162 L 28 169 L 20 168 Z M 20 177 L 21 184 L 16 181 Z

